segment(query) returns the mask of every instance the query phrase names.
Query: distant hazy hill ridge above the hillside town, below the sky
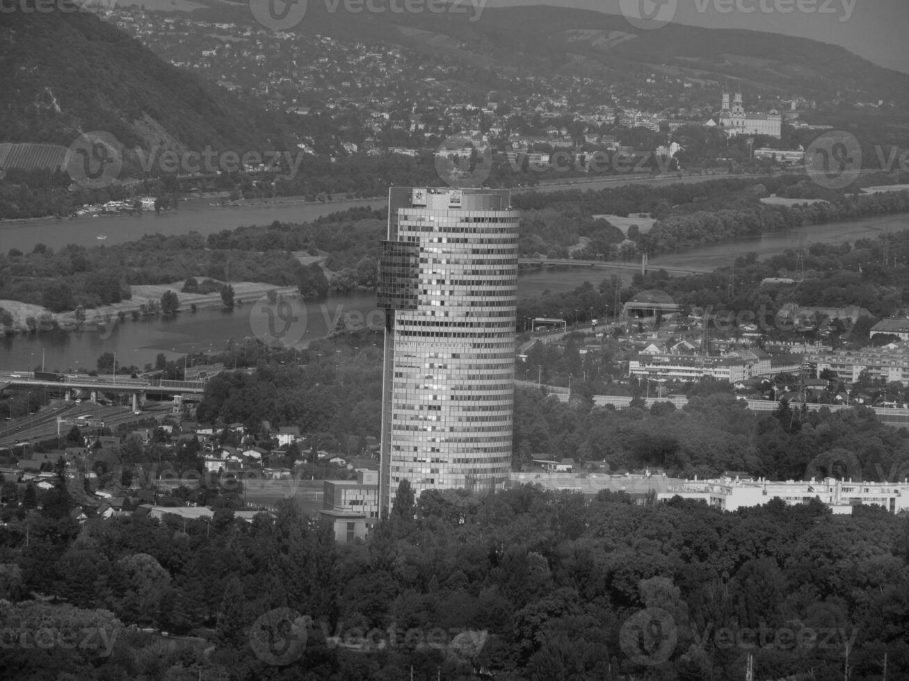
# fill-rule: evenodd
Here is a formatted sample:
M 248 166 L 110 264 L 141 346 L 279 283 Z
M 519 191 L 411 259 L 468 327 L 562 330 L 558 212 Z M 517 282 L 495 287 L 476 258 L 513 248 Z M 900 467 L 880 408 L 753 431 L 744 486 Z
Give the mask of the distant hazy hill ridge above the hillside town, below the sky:
M 198 10 L 200 16 L 261 27 L 248 8 L 203 1 L 210 6 Z M 333 11 L 314 1 L 293 30 L 397 44 L 505 73 L 594 74 L 617 83 L 662 73 L 708 84 L 735 81 L 749 94 L 771 97 L 909 104 L 909 74 L 834 44 L 682 24 L 641 30 L 619 15 L 570 7 L 486 7 L 477 15 L 472 3 L 457 6 L 462 11 L 350 14 L 343 4 Z

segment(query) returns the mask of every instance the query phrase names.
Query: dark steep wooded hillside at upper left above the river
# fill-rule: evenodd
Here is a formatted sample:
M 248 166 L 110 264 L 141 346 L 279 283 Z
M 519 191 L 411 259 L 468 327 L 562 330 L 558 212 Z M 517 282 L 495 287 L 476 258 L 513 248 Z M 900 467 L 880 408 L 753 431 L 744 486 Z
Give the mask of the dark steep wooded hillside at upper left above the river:
M 0 14 L 0 92 L 0 143 L 100 130 L 134 151 L 293 146 L 268 114 L 90 13 Z

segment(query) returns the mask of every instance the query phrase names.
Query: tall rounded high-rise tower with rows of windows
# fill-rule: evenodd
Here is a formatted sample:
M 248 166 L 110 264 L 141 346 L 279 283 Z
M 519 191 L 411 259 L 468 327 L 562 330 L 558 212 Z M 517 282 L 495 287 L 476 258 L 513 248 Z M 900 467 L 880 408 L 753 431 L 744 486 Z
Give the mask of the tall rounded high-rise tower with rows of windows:
M 519 212 L 510 192 L 392 187 L 379 509 L 409 480 L 495 489 L 511 470 Z

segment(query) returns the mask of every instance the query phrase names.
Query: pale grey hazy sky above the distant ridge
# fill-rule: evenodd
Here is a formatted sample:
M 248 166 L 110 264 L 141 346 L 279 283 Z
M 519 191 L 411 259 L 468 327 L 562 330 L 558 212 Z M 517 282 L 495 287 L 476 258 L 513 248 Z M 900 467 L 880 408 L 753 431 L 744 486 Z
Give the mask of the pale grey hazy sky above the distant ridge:
M 660 1 L 674 5 L 674 21 L 681 24 L 804 36 L 909 73 L 909 0 Z M 489 0 L 488 6 L 565 5 L 621 14 L 623 7 L 639 2 L 654 11 L 654 0 Z M 792 12 L 785 11 L 789 7 Z

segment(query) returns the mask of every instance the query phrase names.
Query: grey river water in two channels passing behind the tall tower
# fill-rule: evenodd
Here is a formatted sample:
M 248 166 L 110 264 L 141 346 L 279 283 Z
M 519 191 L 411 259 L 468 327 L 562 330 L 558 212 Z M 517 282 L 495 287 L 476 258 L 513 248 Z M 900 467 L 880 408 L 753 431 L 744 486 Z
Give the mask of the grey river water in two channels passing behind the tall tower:
M 256 206 L 236 209 L 216 208 L 209 205 L 212 199 L 197 199 L 181 204 L 177 212 L 162 215 L 135 217 L 114 216 L 83 218 L 65 221 L 31 221 L 6 223 L 0 227 L 4 250 L 31 249 L 36 242 L 59 246 L 75 242 L 96 245 L 96 235 L 105 233 L 105 243 L 132 241 L 146 232 L 185 233 L 191 229 L 207 234 L 232 229 L 240 224 L 268 224 L 274 220 L 304 222 L 329 212 L 345 210 L 354 205 L 378 207 L 378 199 L 362 199 L 325 204 L 293 204 Z M 729 263 L 731 254 L 756 252 L 765 257 L 794 248 L 799 239 L 812 242 L 854 242 L 856 239 L 875 237 L 883 232 L 909 229 L 909 216 L 879 216 L 850 222 L 812 225 L 787 232 L 766 234 L 746 242 L 713 244 L 685 252 L 664 253 L 650 261 L 651 268 L 679 267 L 692 270 L 712 270 Z M 11 239 L 7 236 L 13 234 Z M 28 244 L 32 244 L 29 246 Z M 566 291 L 584 281 L 598 284 L 609 278 L 612 271 L 606 268 L 560 267 L 527 271 L 518 280 L 521 297 L 534 297 L 543 291 Z M 616 271 L 627 281 L 631 271 Z M 246 301 L 247 303 L 250 301 Z M 259 311 L 261 312 L 261 311 Z M 327 301 L 307 302 L 305 310 L 295 315 L 305 319 L 305 341 L 325 336 L 334 327 L 337 317 L 345 312 L 359 315 L 358 319 L 380 326 L 380 312 L 375 307 L 375 294 L 358 292 L 350 295 L 331 296 Z M 95 361 L 105 351 L 116 352 L 117 363 L 142 367 L 154 362 L 159 352 L 168 357 L 183 356 L 190 350 L 219 352 L 225 349 L 228 339 L 242 341 L 245 337 L 261 335 L 261 321 L 256 323 L 251 315 L 253 305 L 245 305 L 233 312 L 200 310 L 195 313 L 180 312 L 175 318 L 160 317 L 140 321 L 125 321 L 112 330 L 90 328 L 75 332 L 49 332 L 32 335 L 8 336 L 0 340 L 0 370 L 23 370 L 40 365 L 44 356 L 45 369 L 95 368 Z M 299 327 L 298 327 L 299 328 Z

